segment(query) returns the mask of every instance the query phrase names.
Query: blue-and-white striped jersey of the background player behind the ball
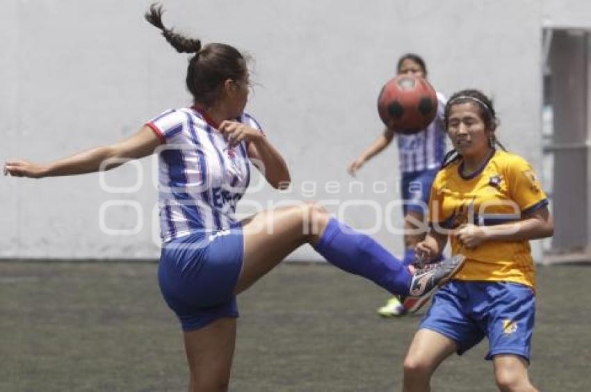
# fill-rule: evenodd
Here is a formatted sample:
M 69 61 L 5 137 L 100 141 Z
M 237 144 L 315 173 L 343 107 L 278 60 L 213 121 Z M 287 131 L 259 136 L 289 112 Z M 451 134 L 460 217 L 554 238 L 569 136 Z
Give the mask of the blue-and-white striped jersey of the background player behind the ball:
M 437 92 L 437 115 L 423 131 L 412 135 L 396 135 L 400 172 L 422 172 L 437 169 L 445 156 L 445 97 Z

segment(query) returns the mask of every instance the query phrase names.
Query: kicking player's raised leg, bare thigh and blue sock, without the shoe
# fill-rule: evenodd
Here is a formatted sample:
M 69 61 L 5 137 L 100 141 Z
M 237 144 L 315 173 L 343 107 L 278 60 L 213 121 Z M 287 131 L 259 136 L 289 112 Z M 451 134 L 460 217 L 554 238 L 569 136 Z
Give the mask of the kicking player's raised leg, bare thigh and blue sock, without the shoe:
M 243 235 L 243 270 L 236 293 L 244 291 L 304 243 L 311 244 L 341 270 L 370 279 L 391 293 L 408 293 L 412 280 L 408 268 L 373 238 L 330 218 L 316 204 L 259 213 L 243 223 Z

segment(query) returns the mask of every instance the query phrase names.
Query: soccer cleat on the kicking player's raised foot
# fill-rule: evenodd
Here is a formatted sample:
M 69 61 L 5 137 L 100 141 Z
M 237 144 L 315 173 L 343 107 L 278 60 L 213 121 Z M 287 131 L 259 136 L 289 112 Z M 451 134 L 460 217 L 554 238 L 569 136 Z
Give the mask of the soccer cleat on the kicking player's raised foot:
M 443 259 L 439 263 L 432 263 L 419 268 L 412 275 L 408 296 L 403 300 L 403 307 L 409 313 L 414 313 L 426 304 L 437 288 L 444 285 L 464 266 L 466 258 L 456 254 L 450 259 Z

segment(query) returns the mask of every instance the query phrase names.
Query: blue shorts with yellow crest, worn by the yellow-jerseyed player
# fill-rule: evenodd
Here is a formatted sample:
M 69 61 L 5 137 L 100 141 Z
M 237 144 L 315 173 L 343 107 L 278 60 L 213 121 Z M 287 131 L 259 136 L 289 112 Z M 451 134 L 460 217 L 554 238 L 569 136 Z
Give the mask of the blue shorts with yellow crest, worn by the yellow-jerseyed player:
M 535 295 L 523 284 L 453 280 L 437 291 L 419 328 L 451 338 L 463 354 L 486 336 L 489 351 L 529 361 Z

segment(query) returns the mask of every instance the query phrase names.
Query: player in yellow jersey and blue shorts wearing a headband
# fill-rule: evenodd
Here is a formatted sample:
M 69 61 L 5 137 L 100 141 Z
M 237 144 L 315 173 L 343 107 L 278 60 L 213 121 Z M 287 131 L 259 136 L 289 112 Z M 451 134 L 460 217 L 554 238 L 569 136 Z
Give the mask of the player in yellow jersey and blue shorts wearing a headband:
M 503 149 L 496 115 L 482 92 L 453 95 L 445 124 L 455 150 L 433 183 L 431 228 L 416 253 L 433 259 L 449 238 L 466 262 L 419 325 L 404 362 L 404 391 L 429 391 L 446 357 L 485 337 L 499 389 L 536 391 L 527 372 L 535 315 L 528 240 L 553 234 L 546 195 L 524 158 L 496 149 Z

